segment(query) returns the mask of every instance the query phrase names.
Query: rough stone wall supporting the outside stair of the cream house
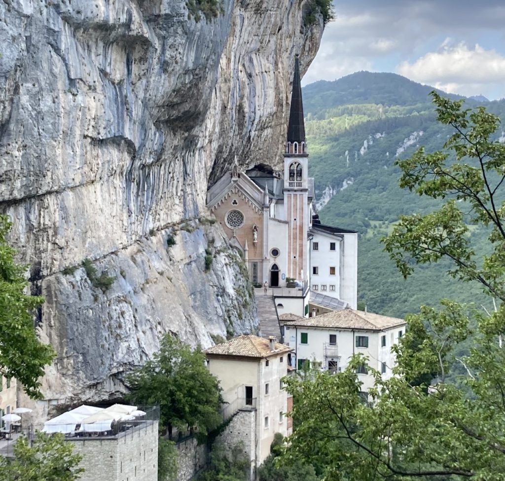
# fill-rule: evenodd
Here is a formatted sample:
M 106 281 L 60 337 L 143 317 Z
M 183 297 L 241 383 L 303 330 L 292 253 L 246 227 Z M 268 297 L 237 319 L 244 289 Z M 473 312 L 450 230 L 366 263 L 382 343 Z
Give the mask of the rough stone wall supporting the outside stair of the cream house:
M 250 460 L 249 479 L 256 478 L 256 409 L 240 409 L 216 441 L 229 448 L 243 443 L 244 454 Z

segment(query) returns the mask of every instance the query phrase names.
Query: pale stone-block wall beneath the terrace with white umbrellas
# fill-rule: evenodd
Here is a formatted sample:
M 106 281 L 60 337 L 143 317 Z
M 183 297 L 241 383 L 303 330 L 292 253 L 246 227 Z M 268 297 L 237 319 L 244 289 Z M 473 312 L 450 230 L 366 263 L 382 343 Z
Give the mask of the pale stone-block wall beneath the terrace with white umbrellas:
M 82 454 L 80 481 L 157 481 L 158 421 L 130 429 L 117 438 L 71 441 Z

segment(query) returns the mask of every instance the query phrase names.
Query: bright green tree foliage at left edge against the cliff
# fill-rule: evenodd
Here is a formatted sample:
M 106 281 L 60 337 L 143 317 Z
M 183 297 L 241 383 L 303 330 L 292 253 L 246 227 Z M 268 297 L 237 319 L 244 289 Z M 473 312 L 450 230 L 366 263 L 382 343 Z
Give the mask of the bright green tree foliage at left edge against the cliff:
M 0 215 L 0 374 L 17 378 L 28 396 L 39 398 L 38 378 L 56 353 L 37 338 L 33 314 L 43 299 L 25 294 L 27 266 L 15 262 L 16 251 L 7 243 L 11 225 Z

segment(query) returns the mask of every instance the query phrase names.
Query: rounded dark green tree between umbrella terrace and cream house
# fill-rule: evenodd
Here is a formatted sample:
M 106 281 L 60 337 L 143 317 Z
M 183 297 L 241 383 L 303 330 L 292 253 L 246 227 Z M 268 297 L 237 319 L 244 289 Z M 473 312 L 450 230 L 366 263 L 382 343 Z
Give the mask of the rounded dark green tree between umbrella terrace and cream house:
M 191 351 L 168 333 L 153 360 L 136 368 L 126 381 L 131 401 L 160 406 L 160 422 L 170 436 L 172 426 L 194 427 L 206 434 L 219 423 L 219 381 L 205 366 L 205 353 L 199 346 Z

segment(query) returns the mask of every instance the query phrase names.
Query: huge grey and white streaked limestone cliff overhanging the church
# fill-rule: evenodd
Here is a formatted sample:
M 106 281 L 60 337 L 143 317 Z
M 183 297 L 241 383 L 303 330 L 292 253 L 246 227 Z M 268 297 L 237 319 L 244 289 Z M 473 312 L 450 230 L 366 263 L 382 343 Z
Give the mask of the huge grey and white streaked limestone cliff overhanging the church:
M 118 395 L 167 331 L 209 346 L 257 329 L 206 192 L 235 155 L 282 160 L 294 55 L 307 68 L 322 33 L 304 8 L 224 0 L 195 22 L 184 0 L 0 2 L 0 211 L 46 298 L 46 399 Z

